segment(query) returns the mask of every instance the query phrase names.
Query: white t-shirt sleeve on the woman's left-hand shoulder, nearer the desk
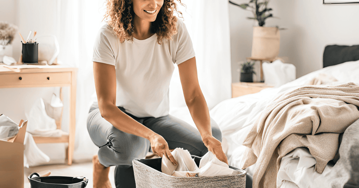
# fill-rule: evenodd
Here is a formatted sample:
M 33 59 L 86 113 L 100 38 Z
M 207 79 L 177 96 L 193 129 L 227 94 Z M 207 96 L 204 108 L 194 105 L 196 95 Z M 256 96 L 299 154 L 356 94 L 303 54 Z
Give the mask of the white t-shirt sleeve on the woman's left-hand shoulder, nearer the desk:
M 95 38 L 92 61 L 115 65 L 117 56 L 116 37 L 106 28 L 101 28 Z

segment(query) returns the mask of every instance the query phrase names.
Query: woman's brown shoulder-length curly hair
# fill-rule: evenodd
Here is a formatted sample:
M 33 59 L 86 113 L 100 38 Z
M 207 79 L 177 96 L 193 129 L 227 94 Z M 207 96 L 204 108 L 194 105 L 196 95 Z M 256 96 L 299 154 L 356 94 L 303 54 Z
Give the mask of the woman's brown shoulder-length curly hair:
M 107 9 L 103 20 L 112 27 L 121 43 L 125 40 L 133 42 L 133 18 L 135 12 L 131 1 L 132 0 L 106 0 Z M 151 24 L 150 32 L 157 34 L 158 44 L 162 43 L 163 38 L 169 40 L 172 38 L 172 35 L 177 33 L 177 17 L 173 13 L 177 12 L 178 16 L 183 18 L 181 11 L 177 10 L 177 4 L 174 1 L 175 0 L 164 0 L 156 20 Z M 177 1 L 185 6 L 181 3 L 181 0 Z

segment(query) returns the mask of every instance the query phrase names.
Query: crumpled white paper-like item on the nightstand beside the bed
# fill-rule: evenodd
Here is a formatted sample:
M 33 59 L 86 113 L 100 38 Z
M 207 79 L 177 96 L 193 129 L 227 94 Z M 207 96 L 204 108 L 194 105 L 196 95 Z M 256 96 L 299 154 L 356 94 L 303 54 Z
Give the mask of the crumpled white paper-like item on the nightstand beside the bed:
M 296 78 L 295 66 L 279 59 L 272 63 L 263 62 L 262 69 L 264 83 L 268 86 L 279 87 Z

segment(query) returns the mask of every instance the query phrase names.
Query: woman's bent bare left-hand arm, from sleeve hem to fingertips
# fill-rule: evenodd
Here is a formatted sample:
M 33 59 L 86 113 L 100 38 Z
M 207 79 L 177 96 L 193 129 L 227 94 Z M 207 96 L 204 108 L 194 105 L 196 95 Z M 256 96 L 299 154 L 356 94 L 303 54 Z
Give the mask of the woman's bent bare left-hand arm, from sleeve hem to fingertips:
M 93 62 L 93 74 L 101 116 L 120 131 L 148 139 L 153 153 L 161 157 L 165 155 L 173 164 L 177 164 L 162 136 L 140 124 L 116 106 L 115 66 Z

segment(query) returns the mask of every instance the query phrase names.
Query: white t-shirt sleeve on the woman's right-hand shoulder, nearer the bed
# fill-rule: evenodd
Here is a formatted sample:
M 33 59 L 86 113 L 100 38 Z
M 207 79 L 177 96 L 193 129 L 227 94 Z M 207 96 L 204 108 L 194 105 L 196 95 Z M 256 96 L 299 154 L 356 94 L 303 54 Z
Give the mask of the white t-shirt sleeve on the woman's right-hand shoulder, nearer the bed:
M 192 57 L 195 57 L 195 50 L 193 49 L 192 40 L 190 34 L 187 31 L 185 23 L 178 19 L 177 24 L 178 45 L 174 63 L 178 65 L 187 61 L 188 59 L 191 59 Z

